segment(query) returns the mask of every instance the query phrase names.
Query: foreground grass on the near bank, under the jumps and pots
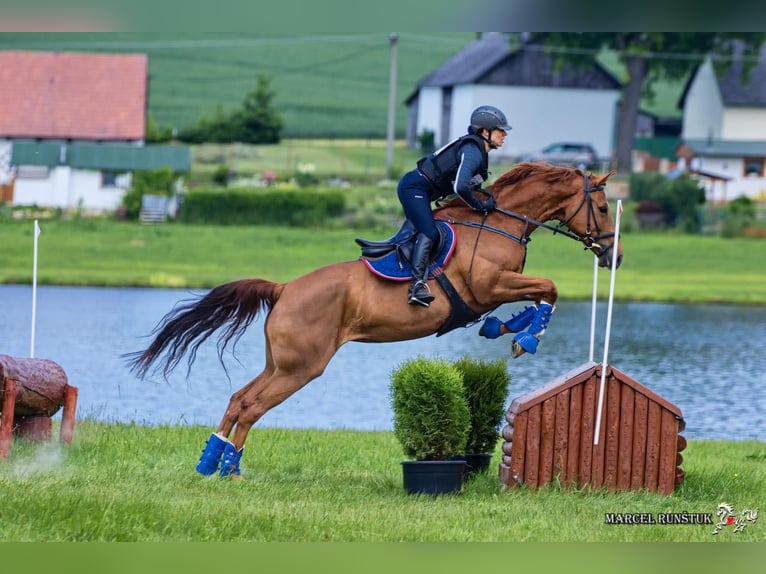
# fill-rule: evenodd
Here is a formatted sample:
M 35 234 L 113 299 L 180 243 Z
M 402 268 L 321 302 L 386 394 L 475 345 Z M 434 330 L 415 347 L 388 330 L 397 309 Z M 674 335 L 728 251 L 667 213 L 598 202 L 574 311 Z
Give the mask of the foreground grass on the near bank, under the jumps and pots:
M 458 495 L 407 495 L 389 432 L 256 429 L 246 480 L 194 471 L 209 429 L 78 421 L 68 447 L 17 441 L 0 463 L 3 541 L 534 542 L 764 540 L 761 521 L 712 535 L 710 525 L 612 525 L 608 512 L 737 512 L 763 504 L 766 448 L 689 441 L 686 479 L 654 493 L 503 490 L 492 471 Z

